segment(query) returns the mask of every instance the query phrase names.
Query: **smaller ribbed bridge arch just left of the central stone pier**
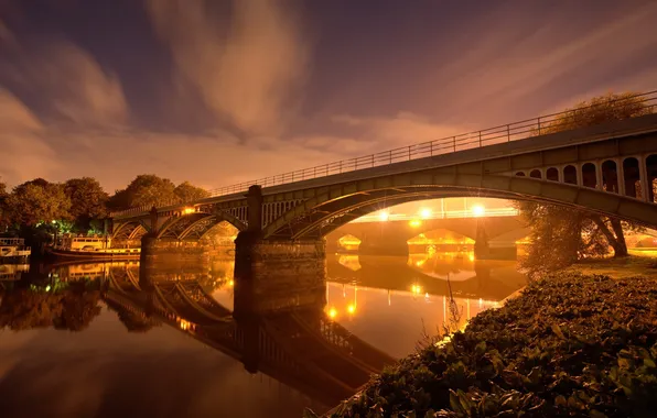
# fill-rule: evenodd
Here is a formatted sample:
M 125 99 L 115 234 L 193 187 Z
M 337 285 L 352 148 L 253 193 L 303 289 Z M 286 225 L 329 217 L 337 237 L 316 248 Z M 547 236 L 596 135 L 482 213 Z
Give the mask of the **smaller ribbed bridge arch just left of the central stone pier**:
M 228 222 L 238 231 L 246 231 L 246 223 L 231 213 L 218 211 L 215 213 L 195 212 L 169 219 L 158 231 L 159 239 L 200 240 L 215 226 Z

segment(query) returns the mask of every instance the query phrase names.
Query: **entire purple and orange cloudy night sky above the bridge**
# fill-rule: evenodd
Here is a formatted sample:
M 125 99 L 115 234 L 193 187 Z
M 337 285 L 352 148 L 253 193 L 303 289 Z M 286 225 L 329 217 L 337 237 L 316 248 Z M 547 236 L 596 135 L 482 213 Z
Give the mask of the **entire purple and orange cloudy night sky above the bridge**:
M 654 0 L 0 0 L 0 180 L 214 188 L 657 89 Z

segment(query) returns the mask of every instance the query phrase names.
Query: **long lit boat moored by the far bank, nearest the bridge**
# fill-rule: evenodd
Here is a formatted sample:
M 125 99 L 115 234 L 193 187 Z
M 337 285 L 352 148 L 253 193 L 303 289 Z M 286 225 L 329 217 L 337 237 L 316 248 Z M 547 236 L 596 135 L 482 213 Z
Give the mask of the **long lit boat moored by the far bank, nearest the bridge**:
M 46 248 L 46 253 L 68 260 L 134 260 L 141 255 L 141 249 L 115 249 L 111 240 L 103 235 L 63 234 Z

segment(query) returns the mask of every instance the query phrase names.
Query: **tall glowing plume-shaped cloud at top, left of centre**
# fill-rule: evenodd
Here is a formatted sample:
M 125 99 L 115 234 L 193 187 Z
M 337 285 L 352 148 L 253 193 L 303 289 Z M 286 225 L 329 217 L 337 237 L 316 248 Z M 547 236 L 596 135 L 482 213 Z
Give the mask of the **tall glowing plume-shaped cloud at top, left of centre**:
M 288 2 L 234 0 L 225 28 L 204 0 L 150 0 L 148 10 L 171 48 L 181 88 L 194 89 L 240 134 L 284 131 L 308 64 L 308 45 Z

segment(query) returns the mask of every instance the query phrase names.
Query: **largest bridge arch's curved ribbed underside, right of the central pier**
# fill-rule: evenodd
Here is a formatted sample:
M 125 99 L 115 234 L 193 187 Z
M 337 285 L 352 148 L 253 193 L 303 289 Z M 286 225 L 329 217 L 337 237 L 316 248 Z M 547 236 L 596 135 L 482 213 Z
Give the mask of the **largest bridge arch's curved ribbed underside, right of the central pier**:
M 317 193 L 315 197 L 295 206 L 267 226 L 263 238 L 323 237 L 340 226 L 387 207 L 389 204 L 474 195 L 556 204 L 647 227 L 654 228 L 656 224 L 653 204 L 591 187 L 528 176 L 446 174 L 427 170 L 390 175 L 375 180 L 358 180 L 320 190 L 321 194 Z

